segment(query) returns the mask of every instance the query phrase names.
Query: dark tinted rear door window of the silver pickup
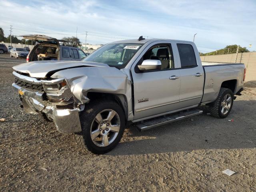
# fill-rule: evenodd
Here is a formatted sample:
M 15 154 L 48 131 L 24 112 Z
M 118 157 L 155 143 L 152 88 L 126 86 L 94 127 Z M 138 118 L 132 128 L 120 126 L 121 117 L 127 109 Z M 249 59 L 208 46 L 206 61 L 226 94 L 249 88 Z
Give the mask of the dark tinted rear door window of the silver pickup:
M 180 63 L 182 68 L 194 67 L 196 64 L 196 56 L 192 45 L 190 44 L 177 44 Z

